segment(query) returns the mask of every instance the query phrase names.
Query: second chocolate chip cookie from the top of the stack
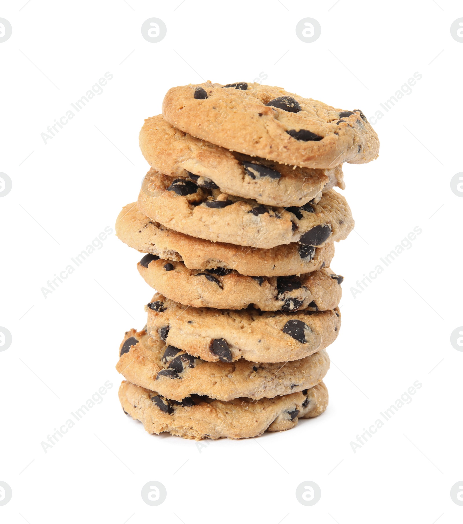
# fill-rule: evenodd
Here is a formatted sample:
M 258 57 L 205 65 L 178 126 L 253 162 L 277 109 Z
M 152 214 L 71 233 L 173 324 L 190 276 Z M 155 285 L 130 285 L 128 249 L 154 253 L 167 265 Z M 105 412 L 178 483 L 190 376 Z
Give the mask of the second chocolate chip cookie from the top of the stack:
M 260 204 L 283 206 L 319 199 L 335 185 L 344 189 L 341 166 L 309 169 L 242 155 L 200 140 L 166 122 L 147 118 L 139 135 L 149 165 L 171 177 L 190 178 L 200 187 L 218 189 Z

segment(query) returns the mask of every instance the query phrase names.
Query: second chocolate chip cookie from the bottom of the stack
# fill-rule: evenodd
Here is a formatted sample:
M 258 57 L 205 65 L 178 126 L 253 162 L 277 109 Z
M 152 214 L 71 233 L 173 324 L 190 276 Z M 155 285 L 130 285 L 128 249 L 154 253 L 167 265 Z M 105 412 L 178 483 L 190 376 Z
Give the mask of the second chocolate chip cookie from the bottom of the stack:
M 125 379 L 173 400 L 207 395 L 218 400 L 249 397 L 259 400 L 288 395 L 321 382 L 329 368 L 328 354 L 278 364 L 206 362 L 134 329 L 125 333 L 116 365 Z

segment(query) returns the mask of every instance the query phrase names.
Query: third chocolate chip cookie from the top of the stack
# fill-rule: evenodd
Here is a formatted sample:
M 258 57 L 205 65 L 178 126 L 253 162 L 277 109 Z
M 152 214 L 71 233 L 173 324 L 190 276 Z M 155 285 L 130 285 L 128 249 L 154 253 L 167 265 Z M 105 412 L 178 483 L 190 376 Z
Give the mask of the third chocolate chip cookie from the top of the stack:
M 275 208 L 153 168 L 142 183 L 138 209 L 186 235 L 262 249 L 292 242 L 312 246 L 339 242 L 354 226 L 346 199 L 333 189 L 323 193 L 318 204 Z

